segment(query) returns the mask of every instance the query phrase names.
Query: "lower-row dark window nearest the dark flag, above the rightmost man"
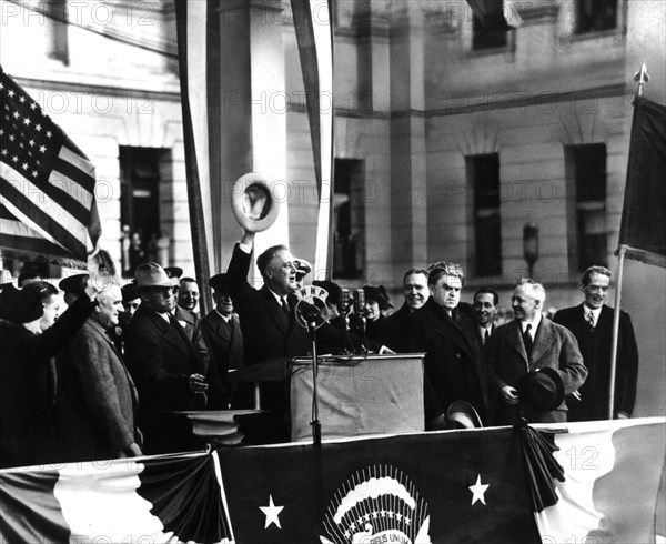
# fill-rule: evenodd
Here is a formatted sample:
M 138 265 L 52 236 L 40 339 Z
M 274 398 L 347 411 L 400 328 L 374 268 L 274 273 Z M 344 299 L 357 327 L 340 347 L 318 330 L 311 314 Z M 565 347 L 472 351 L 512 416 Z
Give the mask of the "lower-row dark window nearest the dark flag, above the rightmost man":
M 572 256 L 576 272 L 607 264 L 606 145 L 589 143 L 565 148 L 568 187 L 573 188 L 575 236 Z

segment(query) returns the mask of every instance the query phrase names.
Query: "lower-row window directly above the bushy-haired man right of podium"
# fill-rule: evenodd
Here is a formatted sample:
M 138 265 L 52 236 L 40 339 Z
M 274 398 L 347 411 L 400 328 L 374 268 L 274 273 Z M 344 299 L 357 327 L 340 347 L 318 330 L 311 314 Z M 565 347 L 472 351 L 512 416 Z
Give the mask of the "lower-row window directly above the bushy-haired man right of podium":
M 474 192 L 475 275 L 502 274 L 502 233 L 500 220 L 500 155 L 497 153 L 465 158 L 467 187 Z

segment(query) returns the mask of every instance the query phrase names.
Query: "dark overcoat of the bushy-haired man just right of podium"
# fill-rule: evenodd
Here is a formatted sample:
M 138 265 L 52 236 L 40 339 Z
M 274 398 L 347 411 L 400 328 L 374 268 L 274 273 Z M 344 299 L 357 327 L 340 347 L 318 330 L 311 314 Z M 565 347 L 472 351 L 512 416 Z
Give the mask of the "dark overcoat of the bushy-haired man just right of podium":
M 431 298 L 412 314 L 412 321 L 410 351 L 426 352 L 425 374 L 442 409 L 467 401 L 486 423 L 487 377 L 471 313 L 466 308 L 456 309 L 452 319 Z

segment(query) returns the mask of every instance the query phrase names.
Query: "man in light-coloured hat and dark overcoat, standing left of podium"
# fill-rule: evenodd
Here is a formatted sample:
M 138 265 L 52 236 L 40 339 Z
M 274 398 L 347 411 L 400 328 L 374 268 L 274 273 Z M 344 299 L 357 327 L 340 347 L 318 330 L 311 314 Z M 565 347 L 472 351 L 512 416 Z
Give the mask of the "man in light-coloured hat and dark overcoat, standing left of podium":
M 139 389 L 139 426 L 148 453 L 196 447 L 185 419 L 170 411 L 206 406 L 205 363 L 173 316 L 178 280 L 157 263 L 137 266 L 141 305 L 127 331 L 128 367 Z

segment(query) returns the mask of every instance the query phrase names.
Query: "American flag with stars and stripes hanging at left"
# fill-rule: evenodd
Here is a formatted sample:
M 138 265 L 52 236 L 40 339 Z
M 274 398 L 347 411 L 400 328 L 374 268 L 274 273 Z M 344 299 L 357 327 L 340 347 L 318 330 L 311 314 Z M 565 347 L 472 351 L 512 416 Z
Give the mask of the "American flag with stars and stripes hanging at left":
M 85 261 L 101 234 L 94 165 L 0 67 L 0 250 Z

